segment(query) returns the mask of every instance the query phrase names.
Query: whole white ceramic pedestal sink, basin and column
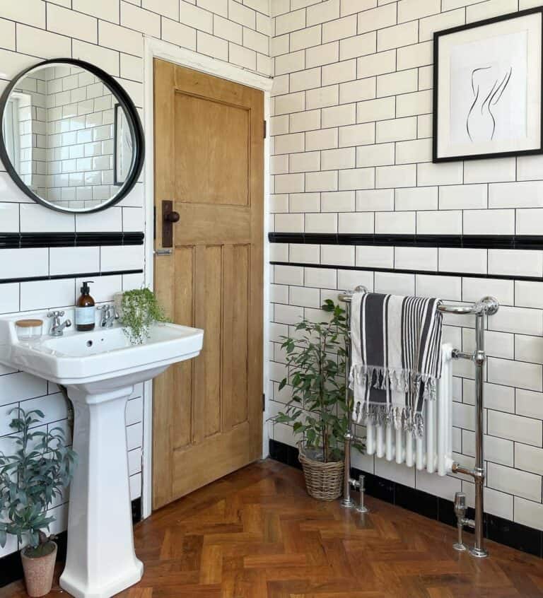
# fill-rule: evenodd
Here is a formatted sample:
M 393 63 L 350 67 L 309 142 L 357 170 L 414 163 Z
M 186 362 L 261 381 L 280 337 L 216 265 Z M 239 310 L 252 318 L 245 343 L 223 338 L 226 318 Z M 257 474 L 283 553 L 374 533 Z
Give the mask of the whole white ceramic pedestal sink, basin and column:
M 134 553 L 124 411 L 134 384 L 202 349 L 202 330 L 158 324 L 139 346 L 122 328 L 65 332 L 20 342 L 16 318 L 0 320 L 0 363 L 68 389 L 74 450 L 68 552 L 60 585 L 76 598 L 108 598 L 141 579 Z

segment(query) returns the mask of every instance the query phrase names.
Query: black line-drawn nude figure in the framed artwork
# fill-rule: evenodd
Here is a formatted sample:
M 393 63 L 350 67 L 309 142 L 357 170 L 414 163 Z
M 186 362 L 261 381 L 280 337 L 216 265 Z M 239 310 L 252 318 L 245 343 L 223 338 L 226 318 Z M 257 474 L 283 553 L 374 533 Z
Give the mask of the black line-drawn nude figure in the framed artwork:
M 496 134 L 494 107 L 501 100 L 512 74 L 513 66 L 510 66 L 505 72 L 498 69 L 496 65 L 479 66 L 472 69 L 473 101 L 469 107 L 465 124 L 467 136 L 472 143 L 494 139 L 494 134 Z

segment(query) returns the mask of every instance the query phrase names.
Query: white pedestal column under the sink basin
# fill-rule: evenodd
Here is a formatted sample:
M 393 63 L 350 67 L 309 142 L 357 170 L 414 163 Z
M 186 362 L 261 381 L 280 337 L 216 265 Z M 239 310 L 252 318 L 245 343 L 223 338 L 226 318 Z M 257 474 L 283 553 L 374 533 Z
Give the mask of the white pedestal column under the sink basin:
M 60 585 L 76 598 L 109 598 L 143 575 L 134 553 L 124 416 L 133 389 L 92 394 L 68 387 L 79 463 L 71 483 Z

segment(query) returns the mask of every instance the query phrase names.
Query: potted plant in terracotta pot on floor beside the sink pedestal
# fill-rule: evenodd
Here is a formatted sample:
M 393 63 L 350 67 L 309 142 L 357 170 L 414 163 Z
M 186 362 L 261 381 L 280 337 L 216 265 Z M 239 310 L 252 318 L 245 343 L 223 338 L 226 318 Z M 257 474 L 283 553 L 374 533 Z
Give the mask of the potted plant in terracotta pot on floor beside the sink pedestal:
M 10 428 L 16 433 L 15 455 L 0 452 L 0 546 L 7 534 L 20 543 L 26 590 L 29 596 L 48 594 L 51 590 L 57 544 L 44 529 L 54 522 L 47 514 L 53 501 L 69 486 L 76 467 L 76 453 L 66 447 L 62 428 L 44 431 L 40 427 L 42 411 L 16 412 Z

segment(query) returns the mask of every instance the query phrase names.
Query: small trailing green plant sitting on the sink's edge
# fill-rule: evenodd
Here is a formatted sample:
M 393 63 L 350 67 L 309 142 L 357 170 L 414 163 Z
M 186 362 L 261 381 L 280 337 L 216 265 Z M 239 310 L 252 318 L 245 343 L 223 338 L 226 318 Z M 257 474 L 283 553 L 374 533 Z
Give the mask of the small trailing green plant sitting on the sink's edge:
M 127 334 L 134 345 L 141 345 L 149 338 L 155 322 L 167 322 L 164 310 L 148 288 L 136 288 L 115 295 L 115 307 Z

